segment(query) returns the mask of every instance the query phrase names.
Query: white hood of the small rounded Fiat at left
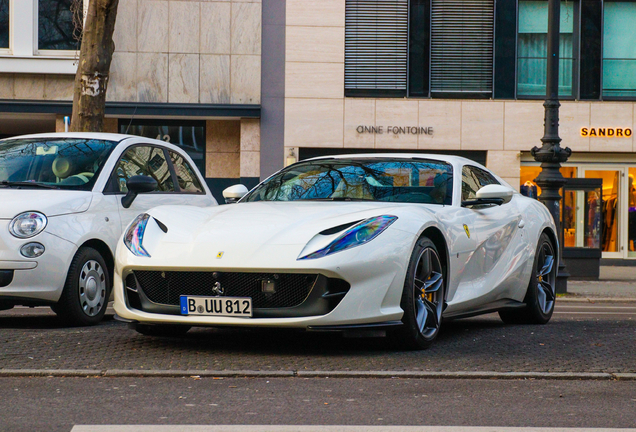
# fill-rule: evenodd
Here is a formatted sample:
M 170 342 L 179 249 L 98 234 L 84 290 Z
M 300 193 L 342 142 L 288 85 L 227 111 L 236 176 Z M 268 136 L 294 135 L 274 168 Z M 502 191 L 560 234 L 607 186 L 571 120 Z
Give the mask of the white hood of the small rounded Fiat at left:
M 88 210 L 92 192 L 0 188 L 0 219 L 13 219 L 25 211 L 60 216 Z

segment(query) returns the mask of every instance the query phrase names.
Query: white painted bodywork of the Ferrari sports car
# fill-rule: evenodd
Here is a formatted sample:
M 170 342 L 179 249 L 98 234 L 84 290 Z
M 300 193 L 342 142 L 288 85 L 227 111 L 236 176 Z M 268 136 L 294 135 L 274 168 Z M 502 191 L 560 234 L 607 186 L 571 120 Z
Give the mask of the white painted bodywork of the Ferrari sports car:
M 404 313 L 400 298 L 409 259 L 416 241 L 429 228 L 441 231 L 448 250 L 445 316 L 469 315 L 489 305 L 523 301 L 539 236 L 544 230 L 555 232 L 552 218 L 541 203 L 512 192 L 505 181 L 495 176 L 503 185 L 500 188 L 511 191 L 508 203 L 482 209 L 462 207 L 462 167 L 485 168 L 460 157 L 422 154 L 337 157 L 416 157 L 450 163 L 455 173 L 452 205 L 242 201 L 205 209 L 157 207 L 148 213 L 165 224 L 168 232 L 148 223 L 143 246 L 151 257 L 133 255 L 123 242 L 117 247 L 114 283 L 117 315 L 142 324 L 237 327 L 308 328 L 400 320 Z M 298 260 L 317 233 L 380 215 L 398 219 L 369 243 L 319 259 Z M 314 245 L 312 249 L 318 247 Z M 218 258 L 220 252 L 223 254 Z M 137 270 L 318 273 L 344 279 L 351 288 L 335 309 L 319 316 L 249 319 L 182 316 L 151 313 L 128 304 L 124 279 Z

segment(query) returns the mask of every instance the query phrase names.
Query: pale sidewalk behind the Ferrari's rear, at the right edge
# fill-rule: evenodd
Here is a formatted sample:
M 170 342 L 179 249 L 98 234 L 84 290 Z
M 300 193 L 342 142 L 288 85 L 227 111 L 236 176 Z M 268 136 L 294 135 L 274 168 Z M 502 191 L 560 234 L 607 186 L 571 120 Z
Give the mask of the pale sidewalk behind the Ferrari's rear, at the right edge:
M 636 267 L 601 266 L 597 281 L 568 280 L 565 299 L 636 301 Z

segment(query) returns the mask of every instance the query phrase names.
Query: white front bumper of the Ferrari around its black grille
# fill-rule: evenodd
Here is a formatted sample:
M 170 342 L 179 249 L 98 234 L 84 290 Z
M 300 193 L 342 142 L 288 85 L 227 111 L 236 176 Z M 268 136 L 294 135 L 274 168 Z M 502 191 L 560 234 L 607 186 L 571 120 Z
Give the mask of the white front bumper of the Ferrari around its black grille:
M 124 246 L 117 249 L 117 264 L 114 277 L 115 312 L 123 320 L 143 324 L 184 324 L 191 326 L 234 327 L 287 327 L 310 328 L 322 326 L 364 325 L 399 321 L 403 311 L 400 300 L 404 286 L 404 275 L 411 254 L 412 236 L 397 230 L 382 234 L 382 247 L 369 245 L 339 252 L 334 255 L 297 261 L 298 252 L 287 252 L 283 246 L 263 248 L 263 253 L 251 256 L 249 264 L 240 265 L 237 260 L 228 267 L 213 267 L 218 261 L 210 259 L 208 266 L 192 265 L 187 257 L 179 262 L 189 266 L 174 265 L 168 259 L 139 258 L 132 256 Z M 374 240 L 377 241 L 377 240 Z M 185 249 L 185 248 L 184 248 Z M 274 253 L 276 249 L 276 253 Z M 196 251 L 193 256 L 201 256 Z M 161 253 L 157 253 L 161 256 Z M 175 254 L 178 256 L 177 254 Z M 208 255 L 209 256 L 209 255 Z M 262 257 L 262 258 L 261 258 Z M 276 257 L 276 262 L 272 257 Z M 169 264 L 173 264 L 172 266 Z M 297 307 L 262 308 L 253 307 L 252 318 L 179 315 L 178 307 L 168 309 L 165 305 L 153 305 L 137 290 L 137 296 L 126 287 L 126 278 L 134 272 L 240 272 L 267 274 L 318 275 L 316 284 L 307 299 Z M 335 281 L 343 281 L 350 288 L 332 290 Z M 129 284 L 130 283 L 129 280 Z M 193 295 L 177 293 L 177 295 Z M 340 299 L 329 299 L 335 294 Z M 211 294 L 210 294 L 211 295 Z M 131 301 L 131 299 L 134 299 Z M 136 302 L 136 303 L 135 303 Z M 253 298 L 254 302 L 254 298 Z M 174 301 L 173 301 L 174 303 Z

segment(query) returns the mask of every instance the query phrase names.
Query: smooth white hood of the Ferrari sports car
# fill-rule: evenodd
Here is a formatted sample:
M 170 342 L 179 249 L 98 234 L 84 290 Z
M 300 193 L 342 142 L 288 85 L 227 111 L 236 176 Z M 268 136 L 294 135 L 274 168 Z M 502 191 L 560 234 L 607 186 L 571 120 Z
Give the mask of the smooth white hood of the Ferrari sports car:
M 404 205 L 367 202 L 253 202 L 198 209 L 156 207 L 150 214 L 168 227 L 165 243 L 218 247 L 305 245 L 319 232 L 373 216 L 402 213 Z M 397 225 L 397 224 L 396 224 Z

